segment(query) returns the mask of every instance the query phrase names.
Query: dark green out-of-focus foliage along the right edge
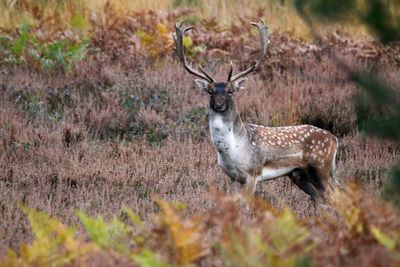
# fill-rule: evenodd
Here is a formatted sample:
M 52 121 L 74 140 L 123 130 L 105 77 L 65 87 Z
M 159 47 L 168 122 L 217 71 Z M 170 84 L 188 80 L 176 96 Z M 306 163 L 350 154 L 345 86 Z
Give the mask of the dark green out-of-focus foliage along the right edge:
M 384 45 L 400 40 L 400 1 L 296 0 L 295 5 L 313 32 L 311 18 L 329 23 L 347 20 L 365 25 Z M 321 41 L 320 36 L 318 39 Z M 379 71 L 353 70 L 336 55 L 331 57 L 361 89 L 355 100 L 359 130 L 367 135 L 392 140 L 400 147 L 400 85 L 389 85 L 380 78 Z M 395 167 L 382 194 L 397 205 L 400 203 L 399 184 L 400 173 Z

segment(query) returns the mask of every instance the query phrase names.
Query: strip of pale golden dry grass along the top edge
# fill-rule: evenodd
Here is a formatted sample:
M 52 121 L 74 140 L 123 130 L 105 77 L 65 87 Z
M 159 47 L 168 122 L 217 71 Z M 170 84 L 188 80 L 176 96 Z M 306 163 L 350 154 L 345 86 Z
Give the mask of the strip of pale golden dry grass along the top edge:
M 178 7 L 190 8 L 194 13 L 189 16 L 191 20 L 208 20 L 216 23 L 221 29 L 232 25 L 242 26 L 243 18 L 250 17 L 252 20 L 263 18 L 274 31 L 287 32 L 291 36 L 310 39 L 307 26 L 297 15 L 291 1 L 261 1 L 261 0 L 156 0 L 156 1 L 106 1 L 106 0 L 64 0 L 64 1 L 33 1 L 16 0 L 0 1 L 0 28 L 16 28 L 22 21 L 29 21 L 33 24 L 39 22 L 43 17 L 54 17 L 63 14 L 61 21 L 64 28 L 73 24 L 75 15 L 83 15 L 88 21 L 96 18 L 105 20 L 109 8 L 113 6 L 113 12 L 119 16 L 125 16 L 132 12 L 143 11 L 174 11 Z M 106 12 L 106 10 L 108 10 Z M 218 19 L 217 19 L 218 18 Z M 89 22 L 90 23 L 90 22 Z M 89 26 L 89 25 L 87 25 Z M 341 31 L 351 33 L 352 36 L 368 36 L 362 26 L 354 25 L 320 25 L 324 32 Z

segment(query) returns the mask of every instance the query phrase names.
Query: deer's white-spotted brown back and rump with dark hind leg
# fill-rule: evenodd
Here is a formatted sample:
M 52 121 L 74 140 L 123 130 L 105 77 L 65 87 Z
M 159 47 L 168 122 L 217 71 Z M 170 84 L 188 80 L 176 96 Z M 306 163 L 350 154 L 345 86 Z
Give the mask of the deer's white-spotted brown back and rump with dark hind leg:
M 313 199 L 324 197 L 324 191 L 334 172 L 333 164 L 337 151 L 337 139 L 334 135 L 311 125 L 250 125 L 250 132 L 252 128 L 252 140 L 256 146 L 271 153 L 263 167 L 296 166 L 295 171 L 288 174 L 292 181 Z M 259 176 L 261 172 L 262 168 L 254 175 Z

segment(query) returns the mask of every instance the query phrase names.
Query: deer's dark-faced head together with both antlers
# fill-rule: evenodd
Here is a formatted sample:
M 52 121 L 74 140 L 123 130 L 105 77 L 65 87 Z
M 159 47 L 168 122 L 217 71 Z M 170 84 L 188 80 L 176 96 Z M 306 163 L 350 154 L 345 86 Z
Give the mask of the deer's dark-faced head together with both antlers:
M 229 110 L 229 108 L 232 106 L 233 95 L 235 94 L 235 92 L 244 88 L 244 83 L 247 81 L 247 78 L 244 77 L 258 69 L 264 61 L 265 51 L 268 44 L 268 27 L 261 20 L 258 23 L 252 22 L 251 24 L 257 27 L 260 34 L 261 50 L 259 53 L 258 61 L 252 67 L 236 75 L 232 75 L 233 65 L 231 63 L 231 67 L 228 73 L 228 79 L 222 82 L 216 82 L 209 74 L 205 72 L 205 70 L 201 66 L 199 66 L 199 72 L 194 70 L 188 64 L 184 53 L 183 35 L 185 32 L 191 30 L 193 26 L 185 27 L 185 21 L 182 22 L 179 26 L 175 25 L 175 33 L 173 34 L 173 37 L 176 45 L 176 53 L 185 69 L 190 74 L 200 78 L 195 79 L 194 82 L 198 88 L 208 93 L 208 95 L 210 96 L 210 108 L 216 112 L 224 112 L 226 110 Z

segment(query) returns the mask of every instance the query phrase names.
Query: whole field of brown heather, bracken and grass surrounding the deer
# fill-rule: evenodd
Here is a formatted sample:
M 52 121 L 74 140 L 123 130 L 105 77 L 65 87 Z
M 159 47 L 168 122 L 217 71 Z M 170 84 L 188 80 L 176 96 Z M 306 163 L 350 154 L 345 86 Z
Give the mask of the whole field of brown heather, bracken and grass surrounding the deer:
M 398 144 L 358 130 L 360 90 L 331 58 L 395 87 L 398 43 L 330 26 L 322 49 L 272 1 L 12 2 L 0 1 L 0 266 L 400 264 L 399 210 L 381 198 Z M 327 206 L 287 177 L 239 197 L 217 166 L 208 96 L 171 32 L 182 18 L 195 24 L 190 60 L 225 79 L 231 60 L 238 70 L 257 56 L 254 17 L 271 25 L 271 42 L 239 111 L 339 137 L 347 193 Z

